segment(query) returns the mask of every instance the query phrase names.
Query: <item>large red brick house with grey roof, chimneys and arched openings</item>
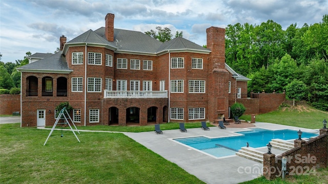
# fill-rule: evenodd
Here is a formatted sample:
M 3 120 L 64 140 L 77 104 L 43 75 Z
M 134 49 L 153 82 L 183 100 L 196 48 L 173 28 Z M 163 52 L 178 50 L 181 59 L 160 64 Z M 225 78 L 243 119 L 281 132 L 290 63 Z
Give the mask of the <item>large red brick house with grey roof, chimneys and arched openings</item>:
M 229 117 L 249 79 L 225 63 L 225 30 L 206 32 L 207 48 L 182 37 L 162 43 L 114 29 L 114 14 L 107 14 L 105 27 L 68 42 L 61 36 L 59 52 L 18 68 L 21 126 L 53 125 L 61 102 L 69 102 L 81 126 Z

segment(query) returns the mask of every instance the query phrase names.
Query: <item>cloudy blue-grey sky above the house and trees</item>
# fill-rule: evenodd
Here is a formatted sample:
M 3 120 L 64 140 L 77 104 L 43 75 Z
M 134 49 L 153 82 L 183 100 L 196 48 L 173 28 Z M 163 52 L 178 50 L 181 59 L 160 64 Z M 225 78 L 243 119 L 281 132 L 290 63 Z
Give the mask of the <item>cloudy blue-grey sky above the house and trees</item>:
M 184 38 L 204 45 L 211 26 L 260 25 L 270 19 L 285 30 L 295 23 L 299 28 L 319 23 L 328 14 L 328 0 L 1 0 L 1 61 L 23 60 L 27 52 L 54 53 L 61 35 L 70 41 L 90 29 L 105 27 L 107 13 L 115 15 L 117 29 L 144 33 L 156 26 L 167 27 L 172 34 L 182 31 Z

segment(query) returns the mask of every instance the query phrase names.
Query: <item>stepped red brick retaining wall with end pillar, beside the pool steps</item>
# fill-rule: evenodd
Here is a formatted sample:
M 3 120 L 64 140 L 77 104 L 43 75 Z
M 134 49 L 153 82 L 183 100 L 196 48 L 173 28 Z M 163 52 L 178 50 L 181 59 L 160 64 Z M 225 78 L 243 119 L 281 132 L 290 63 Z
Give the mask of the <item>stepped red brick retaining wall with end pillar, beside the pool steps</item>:
M 263 176 L 269 180 L 282 177 L 281 159 L 287 158 L 286 177 L 315 174 L 328 165 L 328 129 L 320 129 L 320 135 L 308 142 L 295 140 L 295 148 L 278 156 L 263 154 Z

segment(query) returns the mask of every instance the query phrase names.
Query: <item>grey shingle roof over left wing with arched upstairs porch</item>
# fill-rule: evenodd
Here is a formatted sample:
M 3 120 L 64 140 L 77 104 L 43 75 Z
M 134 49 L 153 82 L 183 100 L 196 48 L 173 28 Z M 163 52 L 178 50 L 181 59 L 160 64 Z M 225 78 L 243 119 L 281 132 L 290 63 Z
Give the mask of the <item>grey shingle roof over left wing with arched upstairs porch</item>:
M 68 67 L 63 52 L 57 52 L 47 58 L 20 66 L 18 71 L 40 71 L 49 73 L 69 73 L 72 70 Z

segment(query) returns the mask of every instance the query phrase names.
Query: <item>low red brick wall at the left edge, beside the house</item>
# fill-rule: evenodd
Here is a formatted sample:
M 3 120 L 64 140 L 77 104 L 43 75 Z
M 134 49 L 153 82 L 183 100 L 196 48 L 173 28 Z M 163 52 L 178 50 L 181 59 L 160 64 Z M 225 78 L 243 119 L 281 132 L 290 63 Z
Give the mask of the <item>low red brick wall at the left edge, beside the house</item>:
M 17 111 L 20 114 L 20 95 L 0 95 L 1 115 L 9 115 Z

